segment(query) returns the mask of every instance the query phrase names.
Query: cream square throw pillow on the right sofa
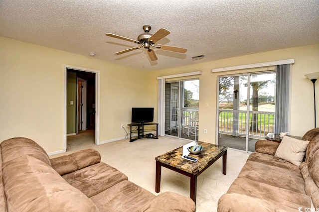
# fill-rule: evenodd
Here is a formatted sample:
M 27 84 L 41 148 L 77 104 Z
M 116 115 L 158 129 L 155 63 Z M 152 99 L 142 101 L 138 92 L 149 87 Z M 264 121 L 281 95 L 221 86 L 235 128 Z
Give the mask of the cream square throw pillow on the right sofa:
M 308 143 L 309 141 L 284 136 L 276 150 L 275 157 L 284 159 L 296 166 L 300 166 L 304 159 Z

